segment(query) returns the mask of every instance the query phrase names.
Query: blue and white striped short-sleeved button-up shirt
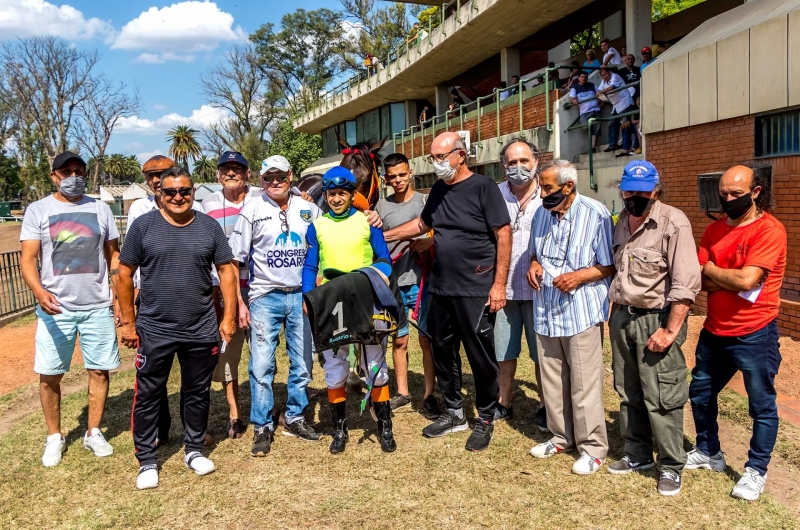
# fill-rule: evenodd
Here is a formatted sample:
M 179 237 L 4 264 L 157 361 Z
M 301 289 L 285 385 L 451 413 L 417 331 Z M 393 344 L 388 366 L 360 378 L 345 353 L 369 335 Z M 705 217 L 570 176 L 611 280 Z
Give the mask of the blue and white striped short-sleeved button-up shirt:
M 534 291 L 534 328 L 547 337 L 572 337 L 608 319 L 611 278 L 583 284 L 572 293 L 553 286 L 554 275 L 594 265 L 614 264 L 611 239 L 614 223 L 602 203 L 583 197 L 575 200 L 562 219 L 539 208 L 531 230 L 531 257 L 544 269 L 541 286 Z

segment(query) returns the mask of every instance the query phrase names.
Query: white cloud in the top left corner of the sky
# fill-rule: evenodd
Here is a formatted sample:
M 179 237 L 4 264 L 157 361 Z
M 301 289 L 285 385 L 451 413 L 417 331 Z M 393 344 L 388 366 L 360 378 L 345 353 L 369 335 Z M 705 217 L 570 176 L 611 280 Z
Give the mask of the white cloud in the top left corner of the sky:
M 113 40 L 114 28 L 99 18 L 89 18 L 70 5 L 44 0 L 0 0 L 0 39 L 55 35 L 67 40 Z

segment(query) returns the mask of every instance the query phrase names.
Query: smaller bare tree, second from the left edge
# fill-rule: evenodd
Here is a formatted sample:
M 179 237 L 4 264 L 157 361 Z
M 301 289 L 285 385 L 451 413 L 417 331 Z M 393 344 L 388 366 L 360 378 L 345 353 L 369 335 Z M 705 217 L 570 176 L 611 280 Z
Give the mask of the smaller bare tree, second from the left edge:
M 91 187 L 96 191 L 100 177 L 100 163 L 106 152 L 117 122 L 122 117 L 136 115 L 140 110 L 138 90 L 128 94 L 123 83 L 114 85 L 105 76 L 90 79 L 87 82 L 86 98 L 78 105 L 78 116 L 81 118 L 76 126 L 76 139 L 94 159 L 90 165 Z

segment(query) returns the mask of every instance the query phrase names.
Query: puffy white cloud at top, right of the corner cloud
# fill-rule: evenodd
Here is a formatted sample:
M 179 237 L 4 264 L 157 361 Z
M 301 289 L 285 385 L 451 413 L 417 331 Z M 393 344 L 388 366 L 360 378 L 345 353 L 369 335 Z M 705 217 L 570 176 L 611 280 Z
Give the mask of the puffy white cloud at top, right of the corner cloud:
M 7 1 L 7 0 L 0 0 Z M 163 63 L 194 60 L 194 55 L 215 50 L 223 42 L 247 40 L 233 15 L 209 1 L 188 1 L 151 7 L 125 24 L 111 45 L 114 49 L 143 51 L 137 62 Z

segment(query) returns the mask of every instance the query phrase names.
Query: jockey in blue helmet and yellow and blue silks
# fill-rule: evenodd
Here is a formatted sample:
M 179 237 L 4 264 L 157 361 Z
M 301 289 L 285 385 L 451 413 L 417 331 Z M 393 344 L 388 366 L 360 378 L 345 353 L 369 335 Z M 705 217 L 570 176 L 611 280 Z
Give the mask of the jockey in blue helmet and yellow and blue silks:
M 373 266 L 388 278 L 392 273 L 391 255 L 383 239 L 383 232 L 379 228 L 371 227 L 366 216 L 355 215 L 358 210 L 353 206 L 356 190 L 356 179 L 353 174 L 345 167 L 333 167 L 323 176 L 322 189 L 330 206 L 330 212 L 317 218 L 306 233 L 308 252 L 303 266 L 303 293 L 316 287 L 317 273 L 320 269 L 323 273 L 326 269 L 347 273 Z M 374 263 L 373 256 L 376 258 Z M 303 309 L 306 310 L 305 304 Z M 373 416 L 378 422 L 380 431 L 381 449 L 384 452 L 392 452 L 397 448 L 397 444 L 392 434 L 389 373 L 385 348 L 380 344 L 367 344 L 363 349 L 366 371 L 369 373 L 377 367 L 371 401 Z M 325 383 L 328 386 L 328 401 L 334 424 L 333 441 L 330 446 L 333 454 L 343 452 L 348 441 L 345 383 L 350 363 L 347 354 L 348 346 L 338 348 L 337 352 L 332 349 L 323 352 Z

